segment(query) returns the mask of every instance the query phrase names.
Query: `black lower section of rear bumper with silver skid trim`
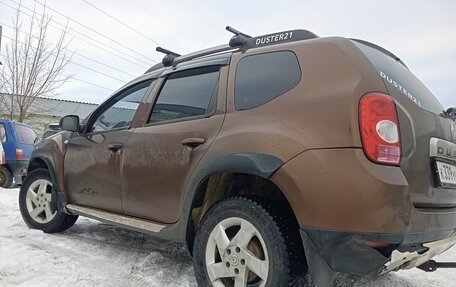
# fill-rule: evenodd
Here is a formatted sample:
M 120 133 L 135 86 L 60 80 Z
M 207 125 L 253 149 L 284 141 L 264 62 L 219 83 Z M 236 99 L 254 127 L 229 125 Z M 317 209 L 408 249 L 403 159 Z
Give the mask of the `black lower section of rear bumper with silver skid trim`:
M 456 230 L 374 234 L 302 228 L 300 232 L 311 268 L 321 266 L 315 264 L 320 260 L 328 271 L 370 278 L 419 266 L 456 244 Z M 321 275 L 321 270 L 314 271 Z

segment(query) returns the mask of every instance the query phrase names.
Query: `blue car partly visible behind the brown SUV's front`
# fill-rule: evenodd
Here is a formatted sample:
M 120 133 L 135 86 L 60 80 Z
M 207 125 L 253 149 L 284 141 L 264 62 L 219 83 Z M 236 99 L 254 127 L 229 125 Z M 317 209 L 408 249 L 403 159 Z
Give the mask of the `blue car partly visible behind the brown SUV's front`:
M 13 179 L 17 185 L 21 185 L 22 177 L 27 174 L 28 161 L 37 135 L 28 125 L 0 120 L 0 140 L 6 160 L 0 170 L 0 186 L 12 187 Z

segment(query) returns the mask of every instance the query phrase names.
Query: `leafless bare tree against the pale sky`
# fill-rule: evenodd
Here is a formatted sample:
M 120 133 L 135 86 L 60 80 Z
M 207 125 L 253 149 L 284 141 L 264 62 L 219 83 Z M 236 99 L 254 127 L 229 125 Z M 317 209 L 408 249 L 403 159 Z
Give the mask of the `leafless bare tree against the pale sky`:
M 55 96 L 70 79 L 63 71 L 73 56 L 68 49 L 67 27 L 60 31 L 56 42 L 49 40 L 51 17 L 46 14 L 45 6 L 41 14 L 35 6 L 30 19 L 24 22 L 23 18 L 19 4 L 10 41 L 5 45 L 0 76 L 1 92 L 9 94 L 1 97 L 3 112 L 19 122 L 24 121 L 37 97 Z

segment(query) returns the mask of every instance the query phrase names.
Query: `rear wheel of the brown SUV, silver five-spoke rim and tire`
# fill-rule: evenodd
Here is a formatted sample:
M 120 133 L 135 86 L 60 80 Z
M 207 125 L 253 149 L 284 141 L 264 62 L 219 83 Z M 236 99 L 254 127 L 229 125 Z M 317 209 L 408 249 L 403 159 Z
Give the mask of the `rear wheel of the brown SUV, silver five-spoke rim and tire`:
M 264 200 L 233 197 L 215 204 L 194 241 L 198 286 L 276 287 L 302 282 L 307 265 L 302 243 L 297 242 L 299 232 L 291 227 L 290 220 Z

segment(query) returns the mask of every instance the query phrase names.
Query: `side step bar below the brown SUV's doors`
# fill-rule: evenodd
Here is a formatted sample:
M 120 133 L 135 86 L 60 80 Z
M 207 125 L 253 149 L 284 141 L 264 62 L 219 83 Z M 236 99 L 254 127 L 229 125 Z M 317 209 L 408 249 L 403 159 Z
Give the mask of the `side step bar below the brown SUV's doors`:
M 66 206 L 68 211 L 73 214 L 87 216 L 96 220 L 105 221 L 107 223 L 113 223 L 115 225 L 121 225 L 129 228 L 133 228 L 140 231 L 160 232 L 165 225 L 150 222 L 147 220 L 133 218 L 127 215 L 119 215 L 113 212 L 99 210 L 95 208 L 79 206 L 74 204 L 68 204 Z

